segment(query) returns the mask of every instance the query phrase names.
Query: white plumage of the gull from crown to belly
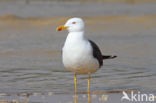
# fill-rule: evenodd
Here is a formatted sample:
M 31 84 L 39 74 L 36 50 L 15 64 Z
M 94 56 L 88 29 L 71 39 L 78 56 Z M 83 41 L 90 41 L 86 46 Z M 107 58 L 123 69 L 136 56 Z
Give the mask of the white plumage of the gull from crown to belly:
M 77 24 L 72 27 L 71 22 Z M 63 51 L 63 64 L 72 72 L 77 74 L 94 73 L 99 69 L 97 59 L 93 57 L 93 49 L 87 39 L 84 38 L 84 23 L 82 20 L 70 19 L 66 26 L 69 27 L 69 34 L 66 38 Z M 72 28 L 74 28 L 72 30 Z

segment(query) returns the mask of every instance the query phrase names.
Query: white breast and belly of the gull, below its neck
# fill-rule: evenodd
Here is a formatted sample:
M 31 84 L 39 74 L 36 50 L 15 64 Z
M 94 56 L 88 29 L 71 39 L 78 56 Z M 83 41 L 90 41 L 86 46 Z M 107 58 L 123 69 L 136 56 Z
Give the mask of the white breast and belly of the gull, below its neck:
M 88 42 L 65 45 L 62 57 L 64 66 L 77 74 L 94 73 L 99 69 L 99 63 L 92 56 L 92 49 Z

